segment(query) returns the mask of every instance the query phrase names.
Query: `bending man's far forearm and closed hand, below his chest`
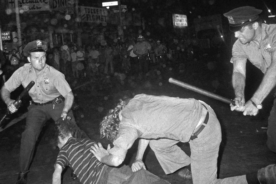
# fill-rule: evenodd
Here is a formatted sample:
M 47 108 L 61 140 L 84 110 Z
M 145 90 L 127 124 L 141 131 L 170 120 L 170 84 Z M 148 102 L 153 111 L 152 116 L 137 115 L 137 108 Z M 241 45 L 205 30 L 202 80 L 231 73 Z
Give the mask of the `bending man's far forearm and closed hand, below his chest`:
M 142 168 L 146 170 L 146 166 L 143 162 L 143 155 L 149 143 L 150 143 L 150 139 L 139 140 L 137 155 L 136 155 L 135 161 L 131 165 L 131 169 L 133 172 L 141 170 Z

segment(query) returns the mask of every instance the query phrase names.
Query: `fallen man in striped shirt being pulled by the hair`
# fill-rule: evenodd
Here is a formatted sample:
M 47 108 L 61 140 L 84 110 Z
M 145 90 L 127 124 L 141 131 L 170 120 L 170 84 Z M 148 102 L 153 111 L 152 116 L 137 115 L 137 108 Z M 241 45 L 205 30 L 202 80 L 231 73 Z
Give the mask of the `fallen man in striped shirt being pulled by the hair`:
M 126 165 L 110 167 L 101 163 L 89 151 L 95 141 L 72 137 L 68 119 L 61 118 L 57 121 L 57 142 L 60 152 L 55 162 L 53 184 L 61 183 L 61 173 L 65 166 L 70 166 L 83 184 L 170 184 L 144 169 L 132 172 Z

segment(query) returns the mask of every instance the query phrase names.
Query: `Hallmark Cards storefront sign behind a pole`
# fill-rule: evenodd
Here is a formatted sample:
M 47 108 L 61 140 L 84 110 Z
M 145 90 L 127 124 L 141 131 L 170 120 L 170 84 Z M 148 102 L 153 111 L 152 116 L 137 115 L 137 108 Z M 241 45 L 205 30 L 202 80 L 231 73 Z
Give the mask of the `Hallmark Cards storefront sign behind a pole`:
M 15 12 L 15 3 L 18 1 L 19 10 L 24 11 L 49 11 L 49 0 L 8 0 L 9 8 Z

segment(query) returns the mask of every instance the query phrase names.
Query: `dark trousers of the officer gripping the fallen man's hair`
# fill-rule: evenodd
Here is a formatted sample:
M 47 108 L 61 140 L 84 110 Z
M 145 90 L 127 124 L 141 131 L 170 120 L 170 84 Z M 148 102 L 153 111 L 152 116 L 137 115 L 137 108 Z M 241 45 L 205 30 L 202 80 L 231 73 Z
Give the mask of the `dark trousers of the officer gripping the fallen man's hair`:
M 26 127 L 21 137 L 20 146 L 20 169 L 21 171 L 28 170 L 32 156 L 34 154 L 34 147 L 39 134 L 44 126 L 44 124 L 52 118 L 57 121 L 60 118 L 64 108 L 64 102 L 60 104 L 48 104 L 45 106 L 30 105 L 28 107 L 28 115 L 26 117 Z M 75 118 L 73 116 L 72 110 L 68 113 L 71 116 L 71 123 L 74 129 L 75 138 L 89 138 L 86 133 L 78 128 L 76 125 Z

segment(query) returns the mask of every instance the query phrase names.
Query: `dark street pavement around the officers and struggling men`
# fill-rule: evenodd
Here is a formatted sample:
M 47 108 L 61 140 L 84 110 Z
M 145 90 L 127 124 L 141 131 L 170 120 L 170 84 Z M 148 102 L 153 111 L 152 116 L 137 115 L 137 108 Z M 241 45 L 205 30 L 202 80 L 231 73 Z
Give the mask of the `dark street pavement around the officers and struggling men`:
M 167 75 L 169 76 L 169 75 Z M 187 81 L 188 78 L 180 78 L 179 74 L 174 74 L 176 78 Z M 214 91 L 210 83 L 196 81 L 198 76 L 191 78 L 188 82 L 198 85 L 206 90 Z M 269 164 L 276 163 L 275 153 L 268 150 L 266 146 L 266 127 L 267 117 L 269 115 L 271 99 L 264 104 L 264 109 L 257 116 L 243 116 L 240 112 L 230 111 L 229 104 L 211 99 L 209 97 L 191 92 L 181 87 L 168 83 L 168 77 L 164 76 L 162 84 L 160 80 L 145 81 L 134 88 L 126 87 L 122 83 L 114 84 L 114 90 L 99 89 L 95 86 L 87 84 L 73 90 L 75 94 L 74 115 L 79 127 L 84 130 L 91 139 L 100 141 L 104 147 L 108 145 L 108 141 L 99 137 L 99 122 L 118 102 L 119 98 L 124 96 L 133 96 L 140 93 L 151 95 L 167 95 L 181 98 L 195 98 L 205 101 L 216 112 L 220 120 L 223 140 L 218 157 L 218 177 L 225 178 L 235 175 L 242 175 L 254 172 L 259 168 Z M 206 79 L 208 80 L 208 79 Z M 150 84 L 150 85 L 149 85 Z M 216 93 L 231 98 L 231 86 L 229 83 L 216 88 Z M 89 91 L 89 93 L 87 93 Z M 3 111 L 4 112 L 4 111 Z M 20 116 L 20 114 L 14 115 Z M 11 117 L 13 118 L 13 117 Z M 168 122 L 169 123 L 169 122 Z M 0 132 L 0 183 L 11 184 L 16 182 L 19 170 L 19 152 L 20 137 L 24 131 L 25 119 L 8 127 Z M 54 144 L 54 122 L 48 121 L 39 140 L 37 141 L 36 152 L 33 162 L 28 173 L 28 183 L 30 184 L 49 184 L 52 180 L 53 165 L 55 163 L 59 149 Z M 178 143 L 178 145 L 187 154 L 190 154 L 189 143 Z M 131 165 L 137 151 L 137 142 L 128 151 L 125 163 Z M 158 175 L 163 179 L 167 179 L 172 184 L 190 184 L 191 180 L 185 180 L 176 174 L 165 175 L 160 164 L 158 163 L 154 152 L 147 149 L 144 156 L 147 170 Z M 71 169 L 68 168 L 63 173 L 63 183 L 76 184 L 70 177 Z

